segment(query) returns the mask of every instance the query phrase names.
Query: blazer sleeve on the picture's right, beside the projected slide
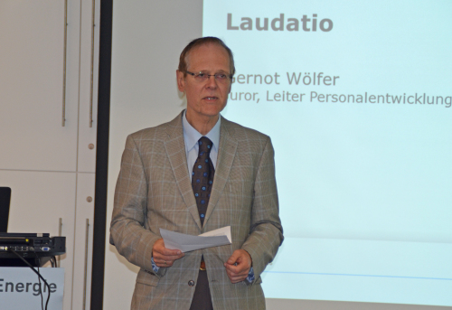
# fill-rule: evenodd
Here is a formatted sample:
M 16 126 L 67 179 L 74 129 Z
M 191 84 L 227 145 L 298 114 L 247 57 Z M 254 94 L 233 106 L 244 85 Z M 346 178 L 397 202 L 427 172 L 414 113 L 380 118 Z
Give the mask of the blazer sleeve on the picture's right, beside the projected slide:
M 274 150 L 268 137 L 260 157 L 254 184 L 250 236 L 241 247 L 251 256 L 255 276 L 253 283 L 259 279 L 268 263 L 275 258 L 283 240 L 283 229 L 279 219 Z

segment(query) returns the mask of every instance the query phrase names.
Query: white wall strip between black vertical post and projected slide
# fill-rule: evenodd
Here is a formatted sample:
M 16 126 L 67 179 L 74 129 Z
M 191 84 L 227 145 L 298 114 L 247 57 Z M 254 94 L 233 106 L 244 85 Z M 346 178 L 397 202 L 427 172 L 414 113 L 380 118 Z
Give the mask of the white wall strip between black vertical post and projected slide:
M 173 119 L 184 108 L 175 70 L 184 46 L 202 35 L 201 0 L 113 5 L 107 240 L 126 137 Z M 137 271 L 107 243 L 104 309 L 129 307 Z

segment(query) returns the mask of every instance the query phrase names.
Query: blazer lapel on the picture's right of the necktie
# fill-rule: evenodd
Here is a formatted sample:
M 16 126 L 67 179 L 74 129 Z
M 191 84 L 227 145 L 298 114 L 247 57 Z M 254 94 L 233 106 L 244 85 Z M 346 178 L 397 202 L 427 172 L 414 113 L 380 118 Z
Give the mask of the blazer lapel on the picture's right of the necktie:
M 221 193 L 224 191 L 224 187 L 229 179 L 231 166 L 237 152 L 238 142 L 231 136 L 228 123 L 228 120 L 226 120 L 225 118 L 221 119 L 218 159 L 215 169 L 215 176 L 213 179 L 211 198 L 209 200 L 209 205 L 205 214 L 204 225 L 207 221 L 209 221 L 212 211 L 213 209 L 215 209 L 215 206 L 217 205 L 221 197 Z

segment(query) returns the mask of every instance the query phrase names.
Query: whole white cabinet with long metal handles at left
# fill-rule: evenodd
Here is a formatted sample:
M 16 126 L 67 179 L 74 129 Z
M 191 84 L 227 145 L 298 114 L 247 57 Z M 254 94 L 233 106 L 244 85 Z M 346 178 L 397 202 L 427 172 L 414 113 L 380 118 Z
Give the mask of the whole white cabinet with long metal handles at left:
M 64 310 L 84 309 L 84 296 L 89 309 L 99 4 L 0 1 L 0 186 L 12 188 L 8 231 L 61 230 L 66 237 Z

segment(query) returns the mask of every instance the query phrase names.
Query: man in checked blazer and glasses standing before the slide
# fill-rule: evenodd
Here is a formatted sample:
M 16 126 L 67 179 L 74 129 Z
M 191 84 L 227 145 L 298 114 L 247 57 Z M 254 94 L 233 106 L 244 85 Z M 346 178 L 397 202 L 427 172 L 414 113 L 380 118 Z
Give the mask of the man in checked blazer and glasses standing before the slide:
M 260 274 L 283 235 L 271 141 L 220 116 L 235 72 L 218 38 L 181 54 L 187 108 L 127 137 L 110 242 L 139 266 L 132 309 L 264 309 Z M 231 245 L 182 253 L 160 229 L 189 235 L 231 226 Z

